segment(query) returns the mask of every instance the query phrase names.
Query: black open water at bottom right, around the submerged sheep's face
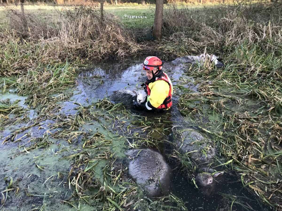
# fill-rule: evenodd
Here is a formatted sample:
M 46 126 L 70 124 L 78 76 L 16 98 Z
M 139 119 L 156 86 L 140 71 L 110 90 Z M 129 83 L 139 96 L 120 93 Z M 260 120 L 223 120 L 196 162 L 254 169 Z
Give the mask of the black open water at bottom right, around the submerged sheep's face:
M 185 175 L 175 173 L 173 194 L 181 198 L 189 210 L 271 210 L 262 205 L 257 196 L 242 188 L 236 176 L 228 175 L 224 179 L 224 183 L 218 183 L 207 196 L 189 183 Z

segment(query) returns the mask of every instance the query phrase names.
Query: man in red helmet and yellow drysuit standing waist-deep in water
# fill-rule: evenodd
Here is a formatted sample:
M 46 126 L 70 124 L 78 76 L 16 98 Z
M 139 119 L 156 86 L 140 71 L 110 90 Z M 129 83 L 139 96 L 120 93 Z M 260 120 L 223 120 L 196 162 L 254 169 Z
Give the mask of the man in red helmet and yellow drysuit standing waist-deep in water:
M 172 106 L 173 86 L 168 75 L 162 71 L 162 61 L 155 56 L 147 57 L 143 62 L 147 81 L 141 86 L 147 93 L 147 102 L 133 103 L 135 108 L 146 111 L 167 111 Z

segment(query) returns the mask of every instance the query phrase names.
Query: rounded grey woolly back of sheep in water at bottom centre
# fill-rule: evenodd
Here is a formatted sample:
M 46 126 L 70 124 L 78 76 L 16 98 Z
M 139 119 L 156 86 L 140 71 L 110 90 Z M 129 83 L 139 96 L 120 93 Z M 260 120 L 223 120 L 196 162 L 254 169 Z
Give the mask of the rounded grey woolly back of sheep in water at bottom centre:
M 149 197 L 159 197 L 169 192 L 171 169 L 164 157 L 151 149 L 133 149 L 126 152 L 129 175 L 138 185 L 144 186 Z

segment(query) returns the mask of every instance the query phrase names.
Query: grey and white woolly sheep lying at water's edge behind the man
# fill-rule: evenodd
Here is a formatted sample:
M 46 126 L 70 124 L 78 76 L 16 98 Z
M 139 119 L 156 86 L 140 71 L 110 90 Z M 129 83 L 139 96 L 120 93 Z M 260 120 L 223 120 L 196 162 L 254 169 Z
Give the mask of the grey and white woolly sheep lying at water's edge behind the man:
M 173 60 L 172 62 L 175 63 L 175 64 L 185 64 L 185 63 L 196 64 L 196 63 L 200 63 L 201 65 L 203 65 L 207 58 L 208 58 L 208 60 L 210 60 L 210 62 L 214 62 L 215 66 L 217 68 L 224 67 L 224 64 L 222 64 L 222 62 L 217 60 L 219 57 L 217 57 L 215 55 L 210 56 L 209 54 L 201 54 L 199 56 L 179 57 L 179 58 Z

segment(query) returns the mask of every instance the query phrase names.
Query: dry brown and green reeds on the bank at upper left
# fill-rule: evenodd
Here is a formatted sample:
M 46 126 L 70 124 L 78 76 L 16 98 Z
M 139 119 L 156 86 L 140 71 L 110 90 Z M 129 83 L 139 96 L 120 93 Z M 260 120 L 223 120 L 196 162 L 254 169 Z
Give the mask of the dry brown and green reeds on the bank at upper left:
M 95 8 L 56 11 L 54 23 L 10 11 L 10 25 L 0 31 L 2 93 L 14 87 L 20 95 L 43 102 L 51 93 L 74 84 L 78 65 L 134 55 L 138 46 L 113 15 L 100 20 Z M 56 25 L 54 25 L 57 23 Z M 30 102 L 28 102 L 30 103 Z

